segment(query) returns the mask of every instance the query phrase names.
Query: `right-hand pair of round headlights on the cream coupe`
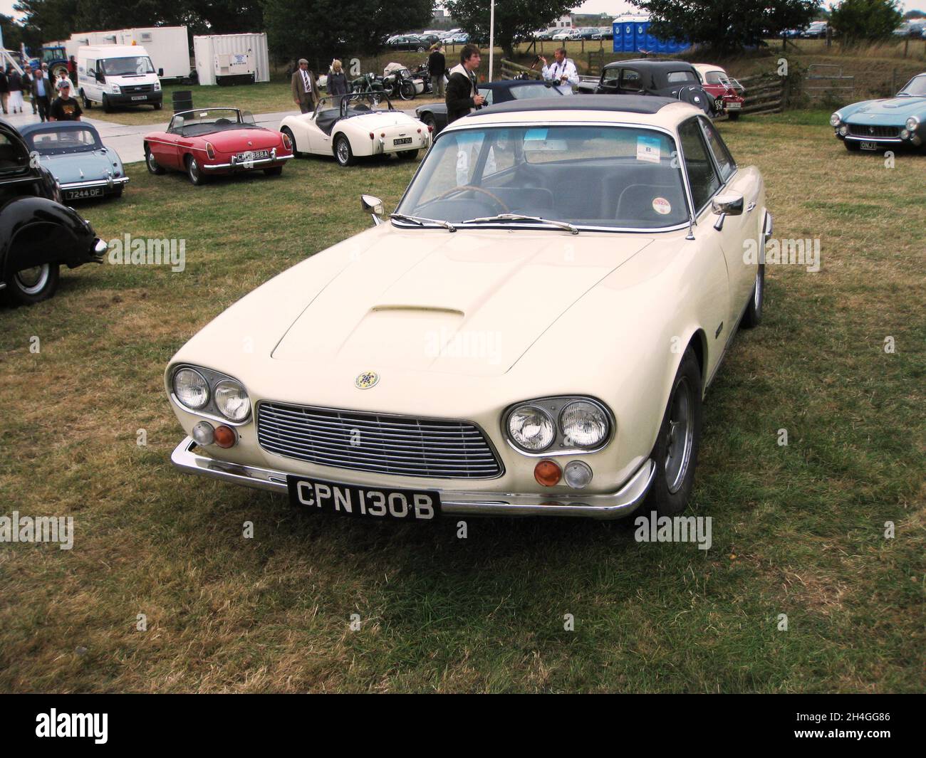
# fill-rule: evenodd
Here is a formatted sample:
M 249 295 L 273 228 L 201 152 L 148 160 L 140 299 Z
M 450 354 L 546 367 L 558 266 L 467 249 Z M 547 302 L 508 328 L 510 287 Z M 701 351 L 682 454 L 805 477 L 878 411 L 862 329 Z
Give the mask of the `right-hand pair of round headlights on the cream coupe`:
M 611 436 L 605 405 L 585 397 L 546 397 L 512 406 L 503 416 L 507 440 L 526 454 L 594 451 Z

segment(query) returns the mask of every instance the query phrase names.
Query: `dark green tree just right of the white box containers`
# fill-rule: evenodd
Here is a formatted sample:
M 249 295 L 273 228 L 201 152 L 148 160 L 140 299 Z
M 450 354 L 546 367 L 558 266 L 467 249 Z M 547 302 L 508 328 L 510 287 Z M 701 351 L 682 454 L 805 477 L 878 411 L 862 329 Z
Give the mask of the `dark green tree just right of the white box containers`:
M 314 68 L 334 56 L 382 50 L 385 38 L 423 27 L 432 19 L 433 0 L 405 0 L 386 6 L 379 0 L 264 0 L 264 27 L 270 51 L 280 59 L 307 58 Z

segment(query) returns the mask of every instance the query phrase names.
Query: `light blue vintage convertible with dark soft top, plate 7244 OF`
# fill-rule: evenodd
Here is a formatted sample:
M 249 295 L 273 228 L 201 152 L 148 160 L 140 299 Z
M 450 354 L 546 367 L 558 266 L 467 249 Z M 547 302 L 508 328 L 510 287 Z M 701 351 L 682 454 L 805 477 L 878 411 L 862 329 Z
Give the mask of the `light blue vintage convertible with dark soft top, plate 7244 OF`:
M 122 194 L 129 177 L 119 155 L 100 142 L 92 124 L 50 121 L 28 124 L 19 133 L 40 165 L 61 185 L 64 200 Z

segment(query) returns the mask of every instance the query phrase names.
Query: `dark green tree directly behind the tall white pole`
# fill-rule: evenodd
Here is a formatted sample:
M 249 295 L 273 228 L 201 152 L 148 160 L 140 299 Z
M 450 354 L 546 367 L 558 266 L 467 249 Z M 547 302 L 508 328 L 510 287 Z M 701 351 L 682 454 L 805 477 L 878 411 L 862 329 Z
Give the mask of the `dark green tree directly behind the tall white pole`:
M 451 17 L 476 40 L 489 39 L 488 0 L 446 0 L 444 6 Z M 545 29 L 569 8 L 575 0 L 496 0 L 495 44 L 505 55 L 514 55 L 515 44 L 530 37 L 532 31 Z

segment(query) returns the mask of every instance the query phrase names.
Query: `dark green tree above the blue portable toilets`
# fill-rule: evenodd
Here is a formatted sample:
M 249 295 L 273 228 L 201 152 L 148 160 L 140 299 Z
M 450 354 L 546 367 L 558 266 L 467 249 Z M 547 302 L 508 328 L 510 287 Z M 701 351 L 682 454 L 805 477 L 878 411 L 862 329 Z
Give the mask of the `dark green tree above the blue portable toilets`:
M 802 29 L 819 0 L 639 0 L 662 39 L 688 40 L 720 55 L 765 44 L 786 29 Z

